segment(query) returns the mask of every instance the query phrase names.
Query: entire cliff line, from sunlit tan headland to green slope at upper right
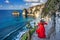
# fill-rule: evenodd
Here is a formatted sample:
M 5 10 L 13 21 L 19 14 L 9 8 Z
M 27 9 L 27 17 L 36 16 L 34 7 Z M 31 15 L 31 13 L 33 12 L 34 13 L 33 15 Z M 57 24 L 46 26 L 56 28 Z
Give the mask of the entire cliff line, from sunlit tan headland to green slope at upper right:
M 35 18 L 43 17 L 47 20 L 47 22 L 51 19 L 51 16 L 59 9 L 60 0 L 48 0 L 45 4 L 36 5 L 30 7 L 27 10 L 27 16 L 33 16 Z

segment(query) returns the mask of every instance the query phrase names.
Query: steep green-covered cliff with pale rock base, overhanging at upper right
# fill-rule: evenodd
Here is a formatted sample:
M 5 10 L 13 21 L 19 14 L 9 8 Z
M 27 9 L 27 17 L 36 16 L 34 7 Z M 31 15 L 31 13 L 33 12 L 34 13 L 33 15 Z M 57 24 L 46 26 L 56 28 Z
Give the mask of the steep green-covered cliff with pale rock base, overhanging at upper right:
M 42 17 L 49 21 L 52 16 L 55 16 L 56 11 L 58 11 L 59 9 L 60 0 L 48 0 L 43 9 Z

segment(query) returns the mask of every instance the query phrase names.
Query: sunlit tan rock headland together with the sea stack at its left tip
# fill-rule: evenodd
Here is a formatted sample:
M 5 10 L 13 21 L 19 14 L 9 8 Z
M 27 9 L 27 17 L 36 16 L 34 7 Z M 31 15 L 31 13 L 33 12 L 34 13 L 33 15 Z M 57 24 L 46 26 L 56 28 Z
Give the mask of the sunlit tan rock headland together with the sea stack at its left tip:
M 35 18 L 38 18 L 41 16 L 44 6 L 45 6 L 45 4 L 30 7 L 28 9 L 26 9 L 28 13 L 25 10 L 23 10 L 23 15 L 27 14 L 27 16 L 33 16 Z

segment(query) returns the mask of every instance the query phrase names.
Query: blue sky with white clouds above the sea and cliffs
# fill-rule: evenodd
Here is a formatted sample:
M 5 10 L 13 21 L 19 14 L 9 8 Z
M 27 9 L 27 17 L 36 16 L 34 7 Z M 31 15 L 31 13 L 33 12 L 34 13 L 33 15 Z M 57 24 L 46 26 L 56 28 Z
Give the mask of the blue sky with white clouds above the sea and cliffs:
M 46 2 L 47 0 L 0 0 L 0 10 L 23 10 Z

